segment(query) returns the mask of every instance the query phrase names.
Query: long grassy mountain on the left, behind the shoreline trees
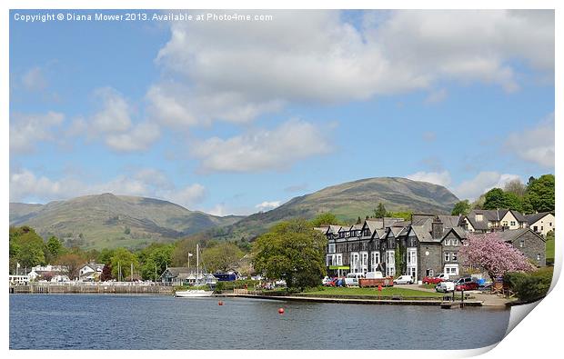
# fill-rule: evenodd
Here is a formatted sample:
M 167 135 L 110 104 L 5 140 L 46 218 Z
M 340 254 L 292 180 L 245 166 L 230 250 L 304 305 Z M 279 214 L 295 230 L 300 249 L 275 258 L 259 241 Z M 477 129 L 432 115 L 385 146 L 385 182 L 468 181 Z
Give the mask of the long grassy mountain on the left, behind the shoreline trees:
M 142 247 L 210 228 L 241 216 L 219 217 L 154 198 L 96 194 L 48 204 L 10 204 L 10 224 L 27 224 L 43 237 L 56 235 L 83 248 Z

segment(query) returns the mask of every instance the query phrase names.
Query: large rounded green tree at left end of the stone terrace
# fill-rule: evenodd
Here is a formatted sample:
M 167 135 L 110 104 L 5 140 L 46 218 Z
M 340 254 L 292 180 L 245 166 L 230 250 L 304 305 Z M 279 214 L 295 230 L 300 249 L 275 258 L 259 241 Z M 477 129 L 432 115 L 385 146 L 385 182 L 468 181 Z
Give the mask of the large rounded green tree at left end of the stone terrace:
M 303 219 L 282 222 L 258 237 L 253 245 L 257 273 L 282 278 L 288 288 L 316 286 L 326 274 L 327 238 Z

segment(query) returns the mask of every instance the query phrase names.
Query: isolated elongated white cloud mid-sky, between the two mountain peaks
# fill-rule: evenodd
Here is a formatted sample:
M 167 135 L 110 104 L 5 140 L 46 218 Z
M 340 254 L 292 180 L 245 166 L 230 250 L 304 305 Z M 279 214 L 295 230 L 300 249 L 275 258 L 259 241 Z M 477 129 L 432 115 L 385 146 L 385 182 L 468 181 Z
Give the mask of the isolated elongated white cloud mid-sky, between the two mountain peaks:
M 297 160 L 331 151 L 324 131 L 301 120 L 273 130 L 249 131 L 228 139 L 210 138 L 192 149 L 204 171 L 250 172 L 287 168 Z

